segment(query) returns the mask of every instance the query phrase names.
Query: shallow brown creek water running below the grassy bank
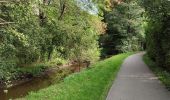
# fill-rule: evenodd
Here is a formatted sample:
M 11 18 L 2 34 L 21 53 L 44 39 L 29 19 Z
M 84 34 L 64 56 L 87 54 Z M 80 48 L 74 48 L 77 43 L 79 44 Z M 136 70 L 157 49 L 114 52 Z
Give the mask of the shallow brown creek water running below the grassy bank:
M 77 69 L 74 69 L 76 68 L 76 66 L 77 65 L 69 66 L 69 67 L 72 67 L 72 69 L 69 69 L 71 73 L 77 70 Z M 81 65 L 81 67 L 85 67 L 85 66 L 86 66 L 85 64 Z M 16 98 L 22 98 L 26 96 L 31 91 L 38 91 L 40 89 L 46 88 L 56 82 L 57 80 L 56 76 L 58 75 L 59 75 L 58 71 L 54 71 L 54 70 L 49 71 L 46 74 L 42 75 L 41 77 L 35 77 L 35 78 L 30 79 L 29 81 L 26 81 L 19 85 L 8 88 L 7 93 L 4 92 L 4 90 L 6 89 L 0 88 L 0 100 L 9 100 L 9 99 L 15 100 Z

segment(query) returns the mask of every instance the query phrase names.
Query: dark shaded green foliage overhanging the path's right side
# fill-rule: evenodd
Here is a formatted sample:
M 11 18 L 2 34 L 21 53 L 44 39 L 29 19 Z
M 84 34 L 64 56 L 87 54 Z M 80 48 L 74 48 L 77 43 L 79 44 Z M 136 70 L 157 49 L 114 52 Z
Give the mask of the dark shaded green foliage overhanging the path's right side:
M 158 66 L 170 69 L 170 2 L 144 0 L 147 16 L 147 51 Z M 155 16 L 156 15 L 156 16 Z

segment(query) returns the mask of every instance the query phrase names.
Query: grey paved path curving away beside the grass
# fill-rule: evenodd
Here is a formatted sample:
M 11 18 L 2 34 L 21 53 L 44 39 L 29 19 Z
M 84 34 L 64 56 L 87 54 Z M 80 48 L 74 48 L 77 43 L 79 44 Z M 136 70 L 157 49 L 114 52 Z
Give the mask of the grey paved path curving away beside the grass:
M 142 61 L 143 54 L 124 61 L 106 100 L 170 100 L 170 92 Z

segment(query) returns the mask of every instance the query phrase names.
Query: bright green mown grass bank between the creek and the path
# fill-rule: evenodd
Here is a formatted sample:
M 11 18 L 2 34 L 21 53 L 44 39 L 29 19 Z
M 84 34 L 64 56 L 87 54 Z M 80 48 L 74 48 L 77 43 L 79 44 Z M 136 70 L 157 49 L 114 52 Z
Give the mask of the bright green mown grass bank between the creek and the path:
M 105 100 L 124 59 L 132 53 L 113 56 L 75 73 L 63 82 L 38 92 L 31 92 L 26 100 Z

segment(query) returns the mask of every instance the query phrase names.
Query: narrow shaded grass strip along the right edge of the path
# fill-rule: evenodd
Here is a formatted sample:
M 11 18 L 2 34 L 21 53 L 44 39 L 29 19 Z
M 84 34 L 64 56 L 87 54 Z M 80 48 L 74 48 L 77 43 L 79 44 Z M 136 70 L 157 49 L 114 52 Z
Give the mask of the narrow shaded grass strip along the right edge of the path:
M 147 54 L 143 57 L 144 62 L 155 73 L 155 75 L 162 81 L 163 84 L 170 90 L 170 72 L 156 65 Z

